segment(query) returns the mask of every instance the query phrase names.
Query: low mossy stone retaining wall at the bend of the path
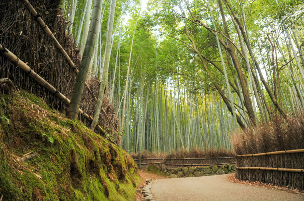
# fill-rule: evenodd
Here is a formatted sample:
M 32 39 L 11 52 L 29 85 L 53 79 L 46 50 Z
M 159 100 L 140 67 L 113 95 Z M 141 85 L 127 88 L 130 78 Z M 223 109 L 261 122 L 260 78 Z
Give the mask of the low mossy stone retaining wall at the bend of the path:
M 235 172 L 235 165 L 211 165 L 202 167 L 166 168 L 166 175 L 170 178 L 201 177 Z

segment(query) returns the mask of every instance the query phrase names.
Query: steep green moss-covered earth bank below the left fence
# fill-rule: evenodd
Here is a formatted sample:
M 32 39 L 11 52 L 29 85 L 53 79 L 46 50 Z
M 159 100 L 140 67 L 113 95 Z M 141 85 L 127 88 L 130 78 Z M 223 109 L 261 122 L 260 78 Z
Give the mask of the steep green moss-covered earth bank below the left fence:
M 20 162 L 28 152 L 38 156 Z M 122 149 L 25 91 L 0 94 L 0 196 L 26 201 L 135 200 L 137 166 Z

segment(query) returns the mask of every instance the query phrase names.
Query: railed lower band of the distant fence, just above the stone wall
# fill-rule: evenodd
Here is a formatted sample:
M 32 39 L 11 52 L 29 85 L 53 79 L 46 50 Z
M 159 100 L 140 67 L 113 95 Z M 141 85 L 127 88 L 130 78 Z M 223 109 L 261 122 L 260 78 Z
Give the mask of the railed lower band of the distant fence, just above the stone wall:
M 235 157 L 209 157 L 209 158 L 143 158 L 134 159 L 140 168 L 155 165 L 160 169 L 165 167 L 189 167 L 189 166 L 209 166 L 235 164 Z

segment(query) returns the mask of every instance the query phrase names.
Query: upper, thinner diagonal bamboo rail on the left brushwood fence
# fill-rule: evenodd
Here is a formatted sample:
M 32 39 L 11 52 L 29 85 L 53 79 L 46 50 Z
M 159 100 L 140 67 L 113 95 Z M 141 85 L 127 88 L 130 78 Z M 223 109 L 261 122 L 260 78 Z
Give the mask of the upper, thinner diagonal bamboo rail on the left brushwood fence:
M 44 30 L 44 32 L 50 36 L 55 44 L 55 46 L 60 50 L 60 52 L 63 54 L 63 56 L 65 57 L 65 59 L 68 61 L 70 67 L 74 70 L 74 72 L 76 74 L 78 74 L 78 69 L 76 68 L 74 62 L 72 61 L 72 59 L 70 58 L 70 56 L 68 55 L 68 53 L 66 52 L 66 50 L 63 49 L 63 47 L 60 45 L 60 43 L 58 42 L 58 40 L 56 39 L 56 37 L 54 36 L 54 34 L 52 33 L 52 31 L 49 29 L 49 27 L 44 23 L 43 19 L 41 18 L 40 14 L 38 14 L 38 12 L 35 10 L 35 8 L 32 6 L 32 4 L 28 1 L 28 0 L 21 0 L 23 2 L 23 4 L 25 5 L 25 7 L 31 12 L 31 14 L 34 16 L 34 18 L 37 20 L 37 22 L 39 23 L 39 25 L 41 26 L 41 28 Z M 87 88 L 88 92 L 91 94 L 92 98 L 94 99 L 94 101 L 97 101 L 96 96 L 94 95 L 94 93 L 92 92 L 91 88 L 88 86 L 88 84 L 86 82 L 84 82 L 85 87 Z M 101 107 L 102 110 L 104 111 L 103 107 Z M 118 132 L 118 130 L 115 128 L 113 121 L 108 117 L 107 113 L 104 112 L 104 115 L 106 115 L 108 121 L 112 124 L 112 126 L 114 127 L 114 129 Z

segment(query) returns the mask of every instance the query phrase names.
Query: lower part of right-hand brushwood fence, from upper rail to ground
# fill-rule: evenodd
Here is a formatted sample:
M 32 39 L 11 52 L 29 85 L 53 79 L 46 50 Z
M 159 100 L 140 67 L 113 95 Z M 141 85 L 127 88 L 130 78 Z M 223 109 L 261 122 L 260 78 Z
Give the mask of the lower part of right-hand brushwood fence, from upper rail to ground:
M 235 176 L 304 190 L 304 149 L 236 155 Z

